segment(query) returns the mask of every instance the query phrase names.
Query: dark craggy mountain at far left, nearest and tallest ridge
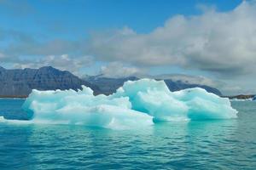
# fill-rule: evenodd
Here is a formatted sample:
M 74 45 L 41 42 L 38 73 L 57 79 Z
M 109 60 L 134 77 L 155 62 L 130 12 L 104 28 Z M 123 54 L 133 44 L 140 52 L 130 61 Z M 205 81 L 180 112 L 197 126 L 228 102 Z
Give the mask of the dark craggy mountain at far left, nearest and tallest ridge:
M 51 66 L 39 69 L 7 70 L 0 67 L 0 95 L 2 97 L 26 97 L 32 89 L 55 90 L 74 89 L 81 86 L 90 87 L 99 93 L 96 85 L 81 80 L 69 71 L 60 71 Z

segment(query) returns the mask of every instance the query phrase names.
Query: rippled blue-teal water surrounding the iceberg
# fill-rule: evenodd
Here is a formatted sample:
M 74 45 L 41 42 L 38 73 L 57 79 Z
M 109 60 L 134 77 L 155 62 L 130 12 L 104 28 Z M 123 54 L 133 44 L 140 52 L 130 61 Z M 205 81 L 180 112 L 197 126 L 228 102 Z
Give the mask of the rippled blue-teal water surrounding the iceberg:
M 0 116 L 26 119 L 24 100 Z M 137 130 L 0 122 L 0 169 L 256 169 L 256 102 L 238 119 L 165 122 Z

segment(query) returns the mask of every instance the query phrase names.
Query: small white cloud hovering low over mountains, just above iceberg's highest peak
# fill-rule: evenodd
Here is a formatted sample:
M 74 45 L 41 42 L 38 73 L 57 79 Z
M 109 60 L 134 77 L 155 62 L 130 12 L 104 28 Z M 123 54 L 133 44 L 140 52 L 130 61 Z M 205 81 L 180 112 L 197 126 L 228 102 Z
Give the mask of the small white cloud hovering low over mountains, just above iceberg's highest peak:
M 110 63 L 107 66 L 102 66 L 101 74 L 104 77 L 131 77 L 138 76 L 144 73 L 143 69 L 138 69 L 134 66 L 125 66 L 119 62 Z

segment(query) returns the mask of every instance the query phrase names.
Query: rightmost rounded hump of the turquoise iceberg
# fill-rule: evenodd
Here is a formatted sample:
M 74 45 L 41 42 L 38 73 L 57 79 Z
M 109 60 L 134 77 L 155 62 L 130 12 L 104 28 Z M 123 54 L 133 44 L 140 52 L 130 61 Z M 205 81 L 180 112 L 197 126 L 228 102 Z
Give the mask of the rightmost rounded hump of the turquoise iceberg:
M 173 93 L 175 98 L 188 107 L 190 120 L 236 118 L 237 111 L 230 105 L 230 100 L 216 94 L 207 93 L 203 88 L 189 88 Z

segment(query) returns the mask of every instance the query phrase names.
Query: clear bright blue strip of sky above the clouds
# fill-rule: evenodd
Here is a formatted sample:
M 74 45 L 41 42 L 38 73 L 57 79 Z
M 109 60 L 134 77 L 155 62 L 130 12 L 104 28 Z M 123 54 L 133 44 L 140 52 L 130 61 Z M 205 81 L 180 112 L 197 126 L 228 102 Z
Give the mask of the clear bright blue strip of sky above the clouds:
M 173 15 L 201 14 L 200 4 L 227 11 L 240 3 L 241 0 L 1 0 L 0 22 L 2 28 L 41 38 L 76 39 L 91 31 L 123 26 L 146 33 Z

